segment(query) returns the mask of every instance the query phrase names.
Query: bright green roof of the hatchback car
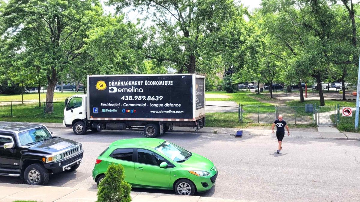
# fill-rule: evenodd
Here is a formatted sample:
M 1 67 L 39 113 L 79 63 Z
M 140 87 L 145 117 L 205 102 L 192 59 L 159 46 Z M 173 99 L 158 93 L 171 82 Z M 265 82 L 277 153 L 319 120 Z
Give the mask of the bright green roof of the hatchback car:
M 157 138 L 131 138 L 131 139 L 121 139 L 110 144 L 109 147 L 113 146 L 145 146 L 150 148 L 155 148 L 161 143 L 165 142 L 163 139 Z

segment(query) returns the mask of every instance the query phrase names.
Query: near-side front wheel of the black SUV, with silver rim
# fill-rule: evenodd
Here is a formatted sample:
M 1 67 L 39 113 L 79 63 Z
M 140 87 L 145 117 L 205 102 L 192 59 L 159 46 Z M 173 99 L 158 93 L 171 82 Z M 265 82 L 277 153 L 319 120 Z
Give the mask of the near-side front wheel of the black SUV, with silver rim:
M 45 185 L 49 181 L 49 172 L 40 163 L 27 166 L 24 171 L 26 183 L 31 185 Z

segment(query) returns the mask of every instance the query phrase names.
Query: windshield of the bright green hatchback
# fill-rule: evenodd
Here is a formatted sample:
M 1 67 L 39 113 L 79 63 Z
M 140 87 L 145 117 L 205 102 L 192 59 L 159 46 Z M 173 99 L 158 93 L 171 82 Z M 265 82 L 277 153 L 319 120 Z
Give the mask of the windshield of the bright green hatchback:
M 184 150 L 176 144 L 172 144 L 167 141 L 163 142 L 154 149 L 169 157 L 173 161 L 184 161 L 190 154 L 190 152 Z

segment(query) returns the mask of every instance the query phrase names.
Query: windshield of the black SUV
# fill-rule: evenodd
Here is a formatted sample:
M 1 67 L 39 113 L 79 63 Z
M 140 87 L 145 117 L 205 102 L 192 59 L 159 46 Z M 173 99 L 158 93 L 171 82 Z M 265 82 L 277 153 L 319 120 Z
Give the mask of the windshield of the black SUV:
M 47 138 L 51 138 L 51 134 L 45 127 L 34 128 L 19 133 L 21 145 L 29 144 L 32 142 L 40 142 Z

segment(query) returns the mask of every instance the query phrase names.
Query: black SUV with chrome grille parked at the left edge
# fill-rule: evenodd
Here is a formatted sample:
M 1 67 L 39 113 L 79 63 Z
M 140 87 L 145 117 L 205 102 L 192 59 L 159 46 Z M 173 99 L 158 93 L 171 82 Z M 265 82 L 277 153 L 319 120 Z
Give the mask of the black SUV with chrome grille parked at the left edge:
M 0 121 L 0 175 L 44 185 L 49 174 L 76 170 L 82 145 L 51 134 L 44 125 Z

